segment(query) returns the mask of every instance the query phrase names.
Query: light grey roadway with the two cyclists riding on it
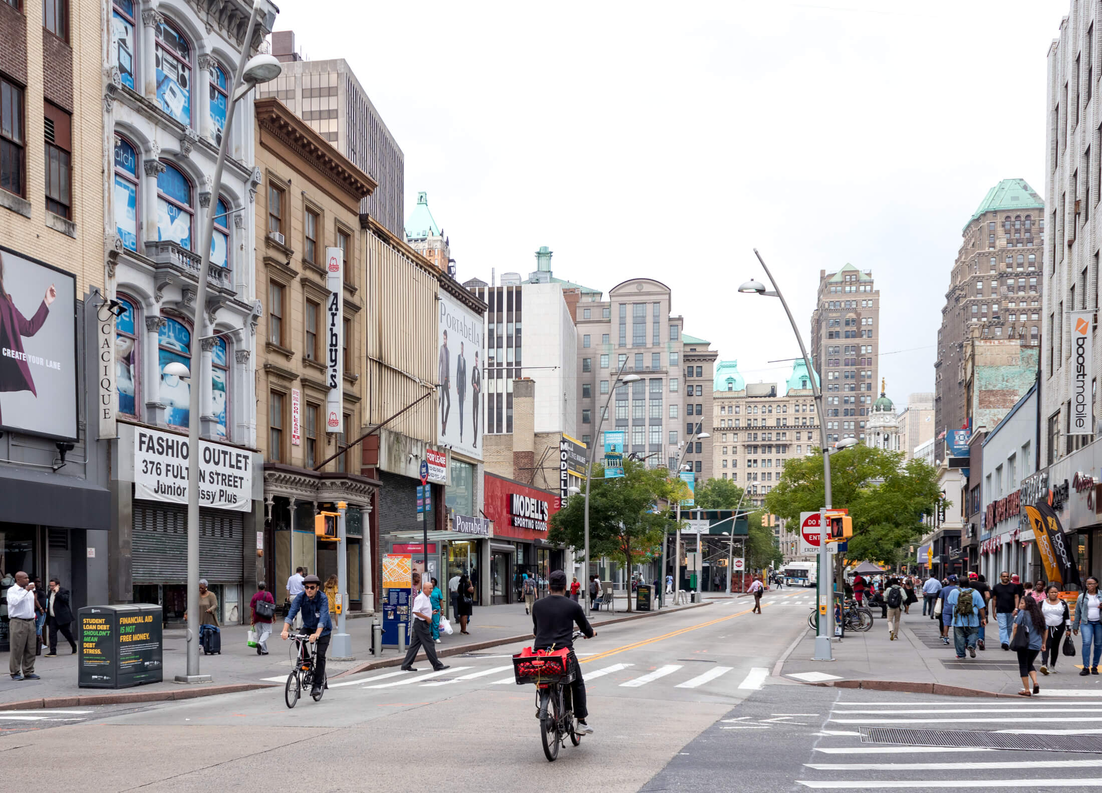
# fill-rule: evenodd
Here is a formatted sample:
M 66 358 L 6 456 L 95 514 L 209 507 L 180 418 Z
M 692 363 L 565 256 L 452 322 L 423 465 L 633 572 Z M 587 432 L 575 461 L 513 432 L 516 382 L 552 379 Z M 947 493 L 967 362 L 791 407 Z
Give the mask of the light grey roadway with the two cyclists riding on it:
M 283 689 L 4 720 L 11 786 L 72 779 L 122 791 L 258 789 L 309 773 L 324 791 L 638 791 L 716 719 L 757 692 L 806 628 L 811 596 L 752 600 L 603 628 L 577 651 L 597 730 L 548 763 L 534 688 L 511 681 L 514 645 L 447 659 L 440 675 L 379 670 L 333 681 L 321 703 L 289 710 Z M 337 685 L 339 684 L 339 685 Z M 804 689 L 801 687 L 801 689 Z M 17 714 L 23 715 L 23 714 Z M 34 715 L 34 714 L 30 714 Z M 39 713 L 37 715 L 47 716 Z

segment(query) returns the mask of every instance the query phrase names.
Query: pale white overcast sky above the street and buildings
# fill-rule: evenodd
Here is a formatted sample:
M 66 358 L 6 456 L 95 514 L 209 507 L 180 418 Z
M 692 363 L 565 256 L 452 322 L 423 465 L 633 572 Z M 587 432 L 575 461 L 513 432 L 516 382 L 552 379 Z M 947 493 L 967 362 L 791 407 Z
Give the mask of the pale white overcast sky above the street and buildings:
M 820 269 L 871 269 L 888 395 L 933 391 L 961 228 L 987 189 L 1044 194 L 1045 63 L 1069 0 L 278 0 L 277 30 L 344 57 L 429 194 L 457 278 L 608 290 L 653 278 L 748 382 L 799 354 Z M 325 13 L 318 13 L 324 8 Z M 899 8 L 900 11 L 885 10 Z M 905 8 L 917 9 L 914 13 Z

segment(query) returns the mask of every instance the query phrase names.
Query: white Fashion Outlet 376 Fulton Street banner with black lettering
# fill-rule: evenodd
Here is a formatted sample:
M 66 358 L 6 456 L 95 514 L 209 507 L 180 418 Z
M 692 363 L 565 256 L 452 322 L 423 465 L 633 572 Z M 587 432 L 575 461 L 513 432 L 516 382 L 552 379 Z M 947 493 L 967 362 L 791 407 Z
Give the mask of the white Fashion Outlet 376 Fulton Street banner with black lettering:
M 199 442 L 199 506 L 252 509 L 252 455 Z M 134 498 L 187 503 L 187 438 L 159 430 L 134 431 Z

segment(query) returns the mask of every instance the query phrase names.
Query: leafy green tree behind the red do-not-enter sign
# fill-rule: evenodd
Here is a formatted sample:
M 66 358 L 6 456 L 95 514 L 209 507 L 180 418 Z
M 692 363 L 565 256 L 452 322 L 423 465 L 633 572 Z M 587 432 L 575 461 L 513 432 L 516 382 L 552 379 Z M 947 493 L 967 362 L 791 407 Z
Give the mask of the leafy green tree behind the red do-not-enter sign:
M 898 564 L 905 546 L 921 539 L 923 514 L 932 514 L 941 491 L 937 471 L 919 459 L 904 461 L 900 452 L 864 444 L 830 458 L 832 507 L 849 509 L 853 537 L 850 560 Z M 786 521 L 817 512 L 824 503 L 822 453 L 785 463 L 780 481 L 766 493 L 765 506 Z M 835 576 L 842 560 L 835 561 Z

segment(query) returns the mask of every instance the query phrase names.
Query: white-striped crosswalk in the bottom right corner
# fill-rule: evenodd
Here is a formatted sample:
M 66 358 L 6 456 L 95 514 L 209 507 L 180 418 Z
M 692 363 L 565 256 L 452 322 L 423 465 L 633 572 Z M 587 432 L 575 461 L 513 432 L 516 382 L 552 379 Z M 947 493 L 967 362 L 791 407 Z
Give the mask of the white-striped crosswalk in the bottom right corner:
M 1102 692 L 1091 697 L 1045 694 L 1045 698 L 1036 699 L 980 702 L 836 702 L 822 719 L 821 729 L 813 734 L 819 741 L 796 783 L 811 790 L 1099 790 L 1102 754 L 984 746 L 988 734 L 1099 734 Z M 962 736 L 942 735 L 940 740 L 964 746 L 886 745 L 874 741 L 862 729 L 880 726 L 960 731 Z M 938 736 L 926 738 L 934 743 L 939 740 Z

